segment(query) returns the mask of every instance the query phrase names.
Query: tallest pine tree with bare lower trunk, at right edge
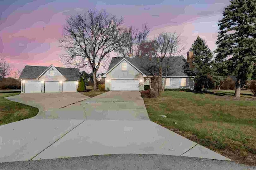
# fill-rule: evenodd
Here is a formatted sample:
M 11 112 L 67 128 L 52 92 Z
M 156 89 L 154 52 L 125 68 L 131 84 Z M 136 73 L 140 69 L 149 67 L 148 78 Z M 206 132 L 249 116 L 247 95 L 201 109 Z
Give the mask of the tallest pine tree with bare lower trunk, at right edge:
M 237 76 L 235 96 L 252 76 L 256 61 L 256 0 L 231 0 L 219 21 L 216 61 L 228 63 Z

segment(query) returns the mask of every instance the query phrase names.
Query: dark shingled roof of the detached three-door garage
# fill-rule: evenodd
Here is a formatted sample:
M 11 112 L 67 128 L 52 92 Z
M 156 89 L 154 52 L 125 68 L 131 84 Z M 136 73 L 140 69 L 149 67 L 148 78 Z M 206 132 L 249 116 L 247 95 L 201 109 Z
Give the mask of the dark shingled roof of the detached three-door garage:
M 28 66 L 22 70 L 20 74 L 20 79 L 36 79 L 40 76 L 48 66 Z M 65 68 L 65 67 L 55 67 L 67 80 L 79 80 L 79 69 L 78 68 Z

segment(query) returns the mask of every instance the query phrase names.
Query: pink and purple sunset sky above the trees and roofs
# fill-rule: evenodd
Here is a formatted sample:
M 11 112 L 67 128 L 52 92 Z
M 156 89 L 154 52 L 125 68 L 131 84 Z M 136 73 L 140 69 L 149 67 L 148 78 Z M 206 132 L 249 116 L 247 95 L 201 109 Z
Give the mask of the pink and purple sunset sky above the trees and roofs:
M 158 3 L 156 3 L 158 2 Z M 199 35 L 212 51 L 216 49 L 218 20 L 229 0 L 6 0 L 0 2 L 0 53 L 14 70 L 25 65 L 64 66 L 58 47 L 62 25 L 70 16 L 88 9 L 105 9 L 123 17 L 124 25 L 147 23 L 149 38 L 161 32 L 181 34 L 186 49 Z M 100 72 L 105 72 L 100 68 Z M 15 76 L 12 75 L 12 76 Z

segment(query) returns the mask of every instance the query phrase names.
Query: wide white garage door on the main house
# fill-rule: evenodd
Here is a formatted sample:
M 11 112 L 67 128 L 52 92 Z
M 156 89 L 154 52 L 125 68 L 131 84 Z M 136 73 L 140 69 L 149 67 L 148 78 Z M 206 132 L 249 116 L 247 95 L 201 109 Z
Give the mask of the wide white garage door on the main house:
M 112 79 L 111 90 L 138 90 L 138 79 Z

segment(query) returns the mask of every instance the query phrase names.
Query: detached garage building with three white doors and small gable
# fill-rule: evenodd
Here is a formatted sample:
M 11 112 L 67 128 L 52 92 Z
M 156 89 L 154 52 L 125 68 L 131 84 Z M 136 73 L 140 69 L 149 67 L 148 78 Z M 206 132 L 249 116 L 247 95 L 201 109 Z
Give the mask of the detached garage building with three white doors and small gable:
M 22 93 L 77 92 L 80 74 L 78 68 L 26 65 L 19 79 Z

